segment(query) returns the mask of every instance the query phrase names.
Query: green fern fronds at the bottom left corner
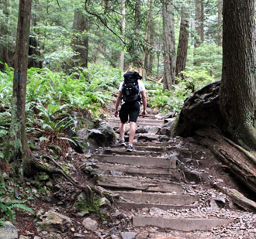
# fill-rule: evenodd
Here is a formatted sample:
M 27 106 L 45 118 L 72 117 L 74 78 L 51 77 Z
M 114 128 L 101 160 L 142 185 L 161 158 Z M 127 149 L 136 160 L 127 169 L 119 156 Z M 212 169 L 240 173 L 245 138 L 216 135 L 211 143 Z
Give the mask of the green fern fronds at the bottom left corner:
M 0 195 L 5 194 L 5 184 L 0 186 Z M 5 200 L 3 200 L 5 199 Z M 5 225 L 6 220 L 11 220 L 12 223 L 16 218 L 16 210 L 23 210 L 34 214 L 30 207 L 27 207 L 24 203 L 26 200 L 9 200 L 8 198 L 0 197 L 0 225 Z

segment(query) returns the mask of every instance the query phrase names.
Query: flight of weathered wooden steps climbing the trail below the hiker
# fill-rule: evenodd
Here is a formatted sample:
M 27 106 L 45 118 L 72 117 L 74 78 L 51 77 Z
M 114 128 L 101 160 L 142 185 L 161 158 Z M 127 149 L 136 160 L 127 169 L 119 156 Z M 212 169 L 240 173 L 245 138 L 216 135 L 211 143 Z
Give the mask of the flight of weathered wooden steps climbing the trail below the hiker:
M 137 125 L 138 128 L 160 128 L 163 123 L 163 120 L 148 117 L 139 119 Z M 111 118 L 109 124 L 118 132 L 117 118 Z M 148 136 L 147 133 L 144 136 Z M 202 213 L 204 206 L 200 204 L 200 195 L 188 193 L 186 183 L 182 183 L 177 156 L 171 151 L 174 146 L 170 142 L 158 142 L 159 135 L 154 136 L 150 142 L 138 142 L 140 135 L 137 135 L 135 152 L 113 146 L 92 155 L 100 172 L 97 184 L 118 195 L 116 206 L 130 214 L 137 231 L 143 233 L 157 227 L 179 232 L 178 237 L 153 233 L 147 234 L 147 238 L 214 238 L 195 236 L 193 231 L 211 230 L 229 224 L 234 218 L 221 217 L 220 213 L 216 213 L 216 217 Z M 182 213 L 175 213 L 176 210 Z

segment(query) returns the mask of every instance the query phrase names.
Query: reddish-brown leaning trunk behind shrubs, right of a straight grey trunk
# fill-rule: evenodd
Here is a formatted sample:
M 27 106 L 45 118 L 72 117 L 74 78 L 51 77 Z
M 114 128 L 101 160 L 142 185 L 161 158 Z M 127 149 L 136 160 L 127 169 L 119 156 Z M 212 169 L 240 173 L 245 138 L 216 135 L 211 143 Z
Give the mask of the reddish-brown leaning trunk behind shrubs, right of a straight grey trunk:
M 181 26 L 178 38 L 178 50 L 176 60 L 176 76 L 185 70 L 189 45 L 189 12 L 186 6 L 182 6 Z M 182 76 L 181 76 L 182 77 Z

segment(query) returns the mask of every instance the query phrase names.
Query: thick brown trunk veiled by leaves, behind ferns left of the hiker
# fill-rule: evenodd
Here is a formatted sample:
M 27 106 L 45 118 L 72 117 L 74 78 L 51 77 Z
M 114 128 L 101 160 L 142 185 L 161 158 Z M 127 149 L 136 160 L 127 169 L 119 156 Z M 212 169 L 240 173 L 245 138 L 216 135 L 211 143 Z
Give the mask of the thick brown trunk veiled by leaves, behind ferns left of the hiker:
M 78 56 L 74 56 L 76 66 L 88 67 L 88 19 L 82 9 L 74 10 L 74 22 L 73 22 L 74 32 L 77 33 L 74 36 L 74 41 L 72 43 L 73 50 L 79 53 Z

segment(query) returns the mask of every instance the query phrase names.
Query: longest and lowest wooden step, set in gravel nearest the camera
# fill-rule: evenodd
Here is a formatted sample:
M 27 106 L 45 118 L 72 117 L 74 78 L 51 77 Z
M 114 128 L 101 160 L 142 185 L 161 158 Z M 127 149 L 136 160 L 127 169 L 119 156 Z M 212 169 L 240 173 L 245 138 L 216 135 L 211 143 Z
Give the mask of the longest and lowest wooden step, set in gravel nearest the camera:
M 134 227 L 160 227 L 171 230 L 211 230 L 223 224 L 229 224 L 234 219 L 220 218 L 169 218 L 169 217 L 133 217 Z

